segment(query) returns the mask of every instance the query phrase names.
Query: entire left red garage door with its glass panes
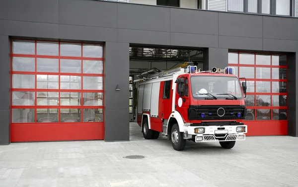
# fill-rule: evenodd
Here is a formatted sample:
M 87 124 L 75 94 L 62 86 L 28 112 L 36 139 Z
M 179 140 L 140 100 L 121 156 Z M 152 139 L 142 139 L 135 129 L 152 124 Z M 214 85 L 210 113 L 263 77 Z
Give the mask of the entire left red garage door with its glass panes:
M 11 142 L 104 138 L 103 46 L 11 41 Z

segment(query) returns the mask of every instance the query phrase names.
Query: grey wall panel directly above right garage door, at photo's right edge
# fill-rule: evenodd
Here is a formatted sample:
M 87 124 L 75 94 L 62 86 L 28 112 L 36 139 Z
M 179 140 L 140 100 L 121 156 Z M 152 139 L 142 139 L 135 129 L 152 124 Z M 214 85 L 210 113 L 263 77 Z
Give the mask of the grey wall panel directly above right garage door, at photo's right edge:
M 275 40 L 263 39 L 264 51 L 282 51 L 282 52 L 296 52 L 298 51 L 297 40 Z

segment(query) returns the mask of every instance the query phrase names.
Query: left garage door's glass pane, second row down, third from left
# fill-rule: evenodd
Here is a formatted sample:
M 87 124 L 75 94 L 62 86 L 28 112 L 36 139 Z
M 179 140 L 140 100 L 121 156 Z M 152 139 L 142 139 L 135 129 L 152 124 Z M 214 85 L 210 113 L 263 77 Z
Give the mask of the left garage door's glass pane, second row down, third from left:
M 60 72 L 62 73 L 81 73 L 81 60 L 60 60 Z

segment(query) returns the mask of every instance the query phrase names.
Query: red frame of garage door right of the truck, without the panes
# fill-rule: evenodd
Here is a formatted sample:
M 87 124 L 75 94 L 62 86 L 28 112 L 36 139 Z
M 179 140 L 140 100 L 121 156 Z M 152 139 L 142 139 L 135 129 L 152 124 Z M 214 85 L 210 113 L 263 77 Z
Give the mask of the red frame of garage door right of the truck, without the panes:
M 249 92 L 247 95 L 254 95 L 254 106 L 246 106 L 247 109 L 253 109 L 255 119 L 253 121 L 244 121 L 246 125 L 248 125 L 248 132 L 247 135 L 288 135 L 288 99 L 287 99 L 287 106 L 273 106 L 272 103 L 272 96 L 273 95 L 286 95 L 288 96 L 288 55 L 287 54 L 274 54 L 274 53 L 250 53 L 250 52 L 233 52 L 229 51 L 229 53 L 236 53 L 238 56 L 237 63 L 229 63 L 229 66 L 235 66 L 239 71 L 240 67 L 254 67 L 254 78 L 247 78 L 247 81 L 254 81 L 255 88 L 254 92 Z M 240 54 L 252 54 L 254 55 L 254 64 L 241 64 L 240 63 Z M 256 55 L 270 55 L 271 56 L 271 63 L 270 65 L 259 65 L 256 64 Z M 287 57 L 287 65 L 273 65 L 272 64 L 272 56 L 275 55 L 282 55 Z M 269 67 L 270 68 L 270 79 L 260 79 L 256 78 L 256 67 Z M 287 69 L 287 79 L 273 79 L 272 77 L 272 68 L 286 68 Z M 240 75 L 241 77 L 241 75 Z M 271 85 L 271 92 L 270 93 L 260 93 L 256 91 L 256 82 L 257 81 L 270 81 Z M 287 82 L 287 92 L 286 93 L 273 93 L 272 92 L 272 82 Z M 256 96 L 257 95 L 270 95 L 271 98 L 271 105 L 268 107 L 259 107 L 257 105 Z M 271 111 L 271 120 L 264 120 L 264 121 L 257 121 L 257 109 L 270 109 Z M 273 109 L 286 109 L 287 110 L 287 120 L 272 120 L 273 117 Z

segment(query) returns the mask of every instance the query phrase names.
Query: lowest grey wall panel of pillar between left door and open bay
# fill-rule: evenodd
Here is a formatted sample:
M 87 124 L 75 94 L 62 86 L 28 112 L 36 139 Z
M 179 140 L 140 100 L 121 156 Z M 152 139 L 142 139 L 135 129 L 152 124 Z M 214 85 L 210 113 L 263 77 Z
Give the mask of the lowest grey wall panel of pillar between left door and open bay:
M 129 141 L 129 109 L 105 110 L 105 141 Z

